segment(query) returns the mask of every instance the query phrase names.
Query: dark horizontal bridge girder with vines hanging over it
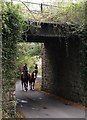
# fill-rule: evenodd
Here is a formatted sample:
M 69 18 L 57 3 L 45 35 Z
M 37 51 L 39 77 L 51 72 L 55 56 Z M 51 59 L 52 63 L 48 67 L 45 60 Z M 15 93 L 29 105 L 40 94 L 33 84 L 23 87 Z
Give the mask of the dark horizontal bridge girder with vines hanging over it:
M 27 37 L 67 37 L 75 31 L 75 25 L 58 22 L 28 21 Z

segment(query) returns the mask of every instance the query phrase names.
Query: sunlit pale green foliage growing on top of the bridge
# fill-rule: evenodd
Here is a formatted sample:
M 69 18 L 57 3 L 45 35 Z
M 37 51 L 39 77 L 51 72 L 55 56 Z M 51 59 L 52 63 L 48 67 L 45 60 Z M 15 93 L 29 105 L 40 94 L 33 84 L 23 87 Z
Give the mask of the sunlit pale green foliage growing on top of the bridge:
M 68 2 L 58 2 L 54 0 L 53 2 L 49 1 L 50 4 L 56 5 L 57 7 L 52 6 L 44 6 L 43 11 L 38 12 L 37 14 L 30 11 L 32 4 L 20 3 L 22 8 L 22 13 L 25 18 L 39 20 L 39 21 L 56 21 L 56 22 L 73 22 L 79 25 L 83 25 L 85 23 L 85 2 L 84 0 L 77 0 L 76 2 L 72 2 L 68 0 Z M 40 6 L 38 6 L 40 7 Z

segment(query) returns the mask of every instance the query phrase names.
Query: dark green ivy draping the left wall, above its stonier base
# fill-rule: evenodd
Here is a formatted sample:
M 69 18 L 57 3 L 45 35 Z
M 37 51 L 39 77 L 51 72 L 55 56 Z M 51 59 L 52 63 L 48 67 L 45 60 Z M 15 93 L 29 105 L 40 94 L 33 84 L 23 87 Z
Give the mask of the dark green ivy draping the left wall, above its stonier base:
M 3 77 L 12 80 L 15 77 L 16 44 L 22 39 L 23 19 L 19 6 L 2 4 L 2 64 Z M 14 52 L 15 51 L 15 52 Z

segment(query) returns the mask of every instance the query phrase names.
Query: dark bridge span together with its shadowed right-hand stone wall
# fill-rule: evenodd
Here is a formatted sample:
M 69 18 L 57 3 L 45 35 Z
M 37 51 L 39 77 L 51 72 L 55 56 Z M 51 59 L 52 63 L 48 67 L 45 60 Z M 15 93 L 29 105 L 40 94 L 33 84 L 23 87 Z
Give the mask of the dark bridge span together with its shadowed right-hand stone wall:
M 85 92 L 80 75 L 80 37 L 75 31 L 77 26 L 35 21 L 28 21 L 27 24 L 26 42 L 44 43 L 42 90 L 84 104 Z

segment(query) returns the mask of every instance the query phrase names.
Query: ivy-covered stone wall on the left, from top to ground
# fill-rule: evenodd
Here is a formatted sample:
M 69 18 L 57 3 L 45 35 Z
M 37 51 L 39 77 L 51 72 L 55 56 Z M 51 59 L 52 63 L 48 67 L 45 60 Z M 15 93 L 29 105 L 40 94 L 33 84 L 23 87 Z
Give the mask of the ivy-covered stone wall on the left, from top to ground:
M 22 40 L 23 17 L 20 7 L 2 3 L 2 117 L 16 115 L 16 44 Z

